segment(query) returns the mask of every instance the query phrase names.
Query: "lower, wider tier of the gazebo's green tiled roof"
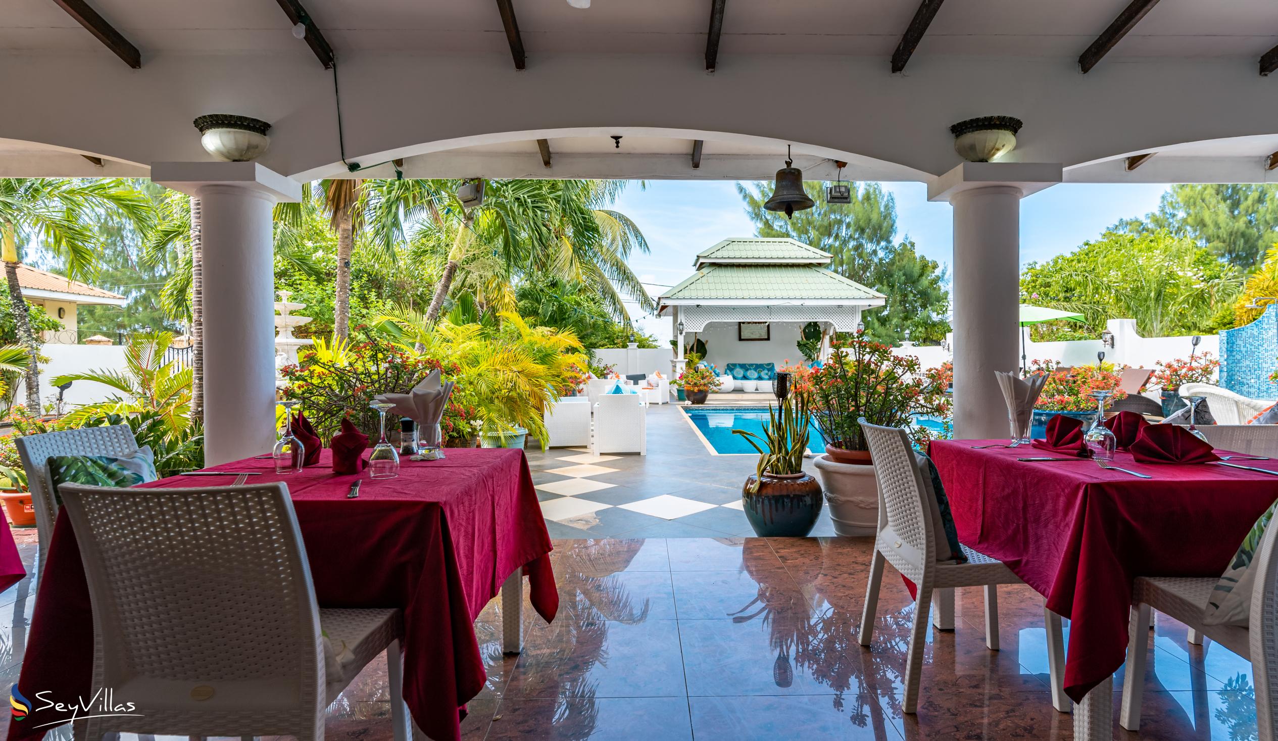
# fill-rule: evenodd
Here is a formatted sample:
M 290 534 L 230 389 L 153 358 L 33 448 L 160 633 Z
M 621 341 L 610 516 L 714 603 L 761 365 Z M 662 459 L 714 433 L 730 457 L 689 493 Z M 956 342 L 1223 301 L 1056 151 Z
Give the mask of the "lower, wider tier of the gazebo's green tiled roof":
M 883 294 L 812 264 L 708 264 L 661 296 L 713 299 L 882 299 Z

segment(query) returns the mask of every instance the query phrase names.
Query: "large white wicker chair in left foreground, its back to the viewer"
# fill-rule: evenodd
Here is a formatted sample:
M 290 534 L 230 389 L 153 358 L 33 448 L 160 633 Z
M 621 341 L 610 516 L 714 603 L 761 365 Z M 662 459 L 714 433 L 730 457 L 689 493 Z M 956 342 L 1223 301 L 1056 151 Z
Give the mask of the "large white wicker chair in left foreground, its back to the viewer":
M 322 741 L 325 708 L 386 650 L 395 741 L 410 737 L 397 609 L 320 609 L 282 483 L 192 489 L 60 487 L 93 608 L 93 687 L 142 717 L 104 733 L 295 736 Z M 322 635 L 353 654 L 326 681 Z

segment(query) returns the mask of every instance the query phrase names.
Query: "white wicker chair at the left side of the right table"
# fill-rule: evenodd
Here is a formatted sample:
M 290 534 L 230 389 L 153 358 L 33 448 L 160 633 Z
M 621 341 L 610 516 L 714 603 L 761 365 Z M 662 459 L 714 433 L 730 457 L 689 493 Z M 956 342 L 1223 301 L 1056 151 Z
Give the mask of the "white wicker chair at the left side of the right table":
M 930 505 L 925 501 L 923 471 L 910 450 L 910 438 L 904 429 L 879 427 L 861 420 L 865 439 L 874 457 L 878 477 L 879 523 L 870 579 L 865 590 L 865 611 L 861 615 L 860 644 L 870 645 L 874 638 L 874 611 L 878 607 L 883 563 L 891 563 L 902 576 L 912 581 L 915 590 L 914 625 L 910 629 L 910 648 L 906 657 L 904 713 L 914 713 L 919 703 L 919 677 L 923 673 L 923 649 L 928 632 L 928 612 L 932 590 L 957 586 L 985 588 L 985 645 L 998 650 L 998 586 L 1021 584 L 1012 570 L 997 561 L 962 546 L 966 563 L 938 562 L 933 542 Z M 1048 664 L 1052 680 L 1052 704 L 1062 713 L 1070 712 L 1065 695 L 1063 646 L 1061 618 L 1047 612 Z

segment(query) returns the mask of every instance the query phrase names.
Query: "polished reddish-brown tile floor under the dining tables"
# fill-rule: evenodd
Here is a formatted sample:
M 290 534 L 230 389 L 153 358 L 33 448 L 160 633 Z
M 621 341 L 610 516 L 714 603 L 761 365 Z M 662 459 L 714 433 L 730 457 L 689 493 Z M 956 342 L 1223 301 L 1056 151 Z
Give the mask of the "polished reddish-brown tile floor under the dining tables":
M 35 544 L 19 549 L 31 563 Z M 469 704 L 466 741 L 1072 736 L 1052 708 L 1042 600 L 1026 586 L 1001 588 L 999 652 L 985 649 L 980 592 L 960 590 L 957 629 L 929 631 L 919 712 L 906 717 L 914 607 L 891 566 L 874 643 L 856 640 L 868 538 L 557 540 L 552 560 L 560 612 L 547 625 L 525 606 L 521 655 L 502 655 L 500 600 L 475 623 L 488 685 Z M 31 588 L 0 593 L 9 684 Z M 1250 664 L 1210 640 L 1187 645 L 1163 616 L 1154 631 L 1141 731 L 1116 723 L 1114 738 L 1255 738 Z M 1117 718 L 1121 672 L 1114 689 Z M 334 703 L 326 728 L 330 741 L 390 741 L 383 658 Z

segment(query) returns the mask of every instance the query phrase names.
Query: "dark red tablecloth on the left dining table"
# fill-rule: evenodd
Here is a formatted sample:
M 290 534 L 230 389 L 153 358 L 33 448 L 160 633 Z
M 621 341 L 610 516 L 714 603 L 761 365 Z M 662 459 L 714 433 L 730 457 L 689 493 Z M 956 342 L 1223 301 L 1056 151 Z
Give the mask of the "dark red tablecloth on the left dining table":
M 484 684 L 473 622 L 520 566 L 533 607 L 547 621 L 558 609 L 550 535 L 520 450 L 449 450 L 442 461 L 403 460 L 395 479 L 335 475 L 321 464 L 276 477 L 270 459 L 210 470 L 259 470 L 252 483 L 289 487 L 322 607 L 404 611 L 404 700 L 432 738 L 459 738 L 459 708 Z M 346 492 L 364 479 L 359 498 Z M 143 487 L 229 484 L 174 477 Z M 92 691 L 93 626 L 74 531 L 58 519 L 32 616 L 19 686 L 28 698 L 52 691 L 74 701 Z M 96 687 L 95 687 L 96 690 Z M 144 712 L 144 709 L 143 709 Z M 40 736 L 40 714 L 9 724 L 9 740 Z

